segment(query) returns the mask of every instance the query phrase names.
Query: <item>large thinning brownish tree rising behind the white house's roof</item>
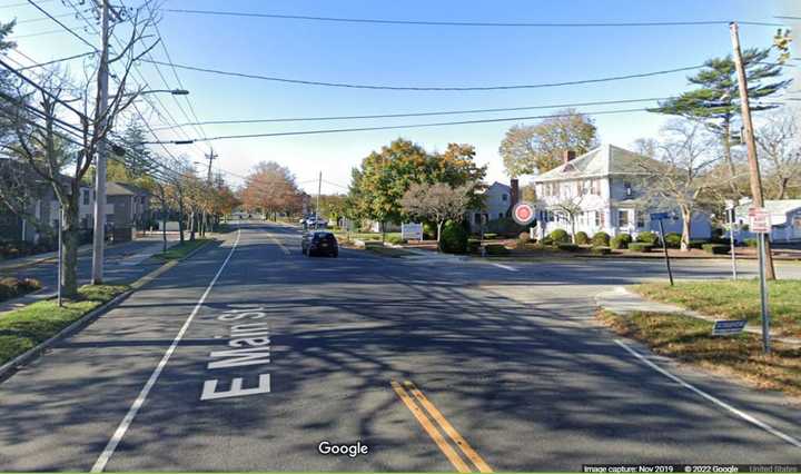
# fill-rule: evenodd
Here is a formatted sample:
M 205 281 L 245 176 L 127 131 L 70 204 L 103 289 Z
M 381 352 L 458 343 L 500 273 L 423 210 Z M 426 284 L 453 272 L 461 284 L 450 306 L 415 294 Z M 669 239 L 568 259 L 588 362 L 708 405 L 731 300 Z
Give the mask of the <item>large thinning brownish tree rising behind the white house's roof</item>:
M 498 152 L 506 174 L 514 178 L 557 167 L 565 150 L 582 155 L 597 146 L 597 128 L 592 118 L 566 109 L 536 125 L 513 126 L 501 141 Z

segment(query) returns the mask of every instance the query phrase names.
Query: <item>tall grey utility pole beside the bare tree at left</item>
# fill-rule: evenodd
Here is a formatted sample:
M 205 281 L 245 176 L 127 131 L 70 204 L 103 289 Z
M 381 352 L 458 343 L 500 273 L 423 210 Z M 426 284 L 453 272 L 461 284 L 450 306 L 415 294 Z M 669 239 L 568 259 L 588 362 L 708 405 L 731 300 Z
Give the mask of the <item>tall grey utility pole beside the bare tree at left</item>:
M 109 0 L 100 1 L 101 49 L 98 68 L 98 93 L 100 103 L 96 105 L 95 127 L 106 132 L 108 125 L 108 42 L 109 42 Z M 103 250 L 106 245 L 106 160 L 108 146 L 102 139 L 98 142 L 98 157 L 95 166 L 95 233 L 92 237 L 92 285 L 100 285 L 103 277 Z

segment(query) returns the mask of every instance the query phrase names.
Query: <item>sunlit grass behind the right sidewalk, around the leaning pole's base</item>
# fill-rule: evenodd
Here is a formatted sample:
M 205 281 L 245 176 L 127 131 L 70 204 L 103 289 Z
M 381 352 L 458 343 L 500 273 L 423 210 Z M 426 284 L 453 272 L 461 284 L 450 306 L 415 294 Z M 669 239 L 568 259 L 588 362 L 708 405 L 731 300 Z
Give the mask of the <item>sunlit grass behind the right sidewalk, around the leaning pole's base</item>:
M 759 283 L 750 280 L 680 282 L 643 284 L 633 289 L 659 302 L 674 303 L 710 316 L 761 322 Z M 801 280 L 768 283 L 771 328 L 787 336 L 801 337 Z

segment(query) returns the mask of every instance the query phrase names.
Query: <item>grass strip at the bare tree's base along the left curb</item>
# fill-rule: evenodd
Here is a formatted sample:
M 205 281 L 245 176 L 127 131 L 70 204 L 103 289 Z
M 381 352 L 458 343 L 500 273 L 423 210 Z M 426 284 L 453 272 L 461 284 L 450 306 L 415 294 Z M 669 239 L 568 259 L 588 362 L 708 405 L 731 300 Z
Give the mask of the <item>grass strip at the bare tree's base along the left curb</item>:
M 47 340 L 127 289 L 127 285 L 87 285 L 79 289 L 79 299 L 66 300 L 62 307 L 48 299 L 0 314 L 0 364 Z

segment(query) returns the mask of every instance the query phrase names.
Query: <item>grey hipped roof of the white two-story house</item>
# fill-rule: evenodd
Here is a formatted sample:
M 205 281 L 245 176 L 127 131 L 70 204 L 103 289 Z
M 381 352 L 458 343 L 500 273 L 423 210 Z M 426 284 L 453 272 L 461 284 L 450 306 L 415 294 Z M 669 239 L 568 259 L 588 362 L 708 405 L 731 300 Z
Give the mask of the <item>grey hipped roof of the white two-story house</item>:
M 563 164 L 536 178 L 534 182 L 584 178 L 590 176 L 640 175 L 645 172 L 642 165 L 659 161 L 629 151 L 614 145 L 602 145 L 584 155 Z

